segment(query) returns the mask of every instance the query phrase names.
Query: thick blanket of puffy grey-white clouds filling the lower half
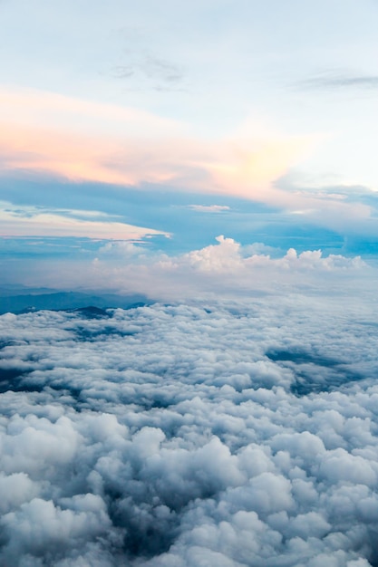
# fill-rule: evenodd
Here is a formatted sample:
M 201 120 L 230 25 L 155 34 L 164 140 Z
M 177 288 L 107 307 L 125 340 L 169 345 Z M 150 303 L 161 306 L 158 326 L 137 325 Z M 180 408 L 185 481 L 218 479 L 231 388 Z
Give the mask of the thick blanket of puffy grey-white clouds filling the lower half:
M 0 317 L 0 564 L 378 565 L 377 309 L 334 297 Z

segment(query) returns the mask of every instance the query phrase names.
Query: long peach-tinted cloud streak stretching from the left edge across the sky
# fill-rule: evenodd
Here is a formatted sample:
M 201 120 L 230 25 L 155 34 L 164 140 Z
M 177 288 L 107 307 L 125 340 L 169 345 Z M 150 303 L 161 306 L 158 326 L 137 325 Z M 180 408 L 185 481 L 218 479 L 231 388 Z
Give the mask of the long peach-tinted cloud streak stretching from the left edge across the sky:
M 262 201 L 284 196 L 277 178 L 314 145 L 310 137 L 196 139 L 148 112 L 35 91 L 0 91 L 0 162 L 71 180 L 162 183 Z M 9 120 L 9 116 L 14 116 Z

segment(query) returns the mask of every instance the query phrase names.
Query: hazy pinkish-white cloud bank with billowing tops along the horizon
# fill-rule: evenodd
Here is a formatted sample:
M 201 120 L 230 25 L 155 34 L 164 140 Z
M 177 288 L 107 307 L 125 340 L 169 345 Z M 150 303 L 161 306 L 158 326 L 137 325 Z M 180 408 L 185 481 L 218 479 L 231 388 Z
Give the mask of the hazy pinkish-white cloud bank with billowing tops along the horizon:
M 360 256 L 324 255 L 321 250 L 298 254 L 294 248 L 285 254 L 258 243 L 242 246 L 224 235 L 216 240 L 215 245 L 176 256 L 157 254 L 138 242 L 102 242 L 97 252 L 87 254 L 87 260 L 82 257 L 80 263 L 24 260 L 12 266 L 10 283 L 97 293 L 109 289 L 111 282 L 111 289 L 118 293 L 143 293 L 162 301 L 185 301 L 197 295 L 275 294 L 284 289 L 293 293 L 304 286 L 315 294 L 329 293 L 338 285 L 353 293 L 362 282 L 374 285 L 375 269 Z

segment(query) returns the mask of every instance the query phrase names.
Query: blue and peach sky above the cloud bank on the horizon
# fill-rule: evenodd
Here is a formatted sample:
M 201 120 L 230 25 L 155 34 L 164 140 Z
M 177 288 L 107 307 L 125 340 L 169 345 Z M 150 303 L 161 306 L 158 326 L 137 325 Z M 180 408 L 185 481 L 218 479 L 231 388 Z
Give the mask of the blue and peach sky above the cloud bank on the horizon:
M 373 0 L 3 0 L 6 282 L 220 235 L 373 260 L 377 24 Z

